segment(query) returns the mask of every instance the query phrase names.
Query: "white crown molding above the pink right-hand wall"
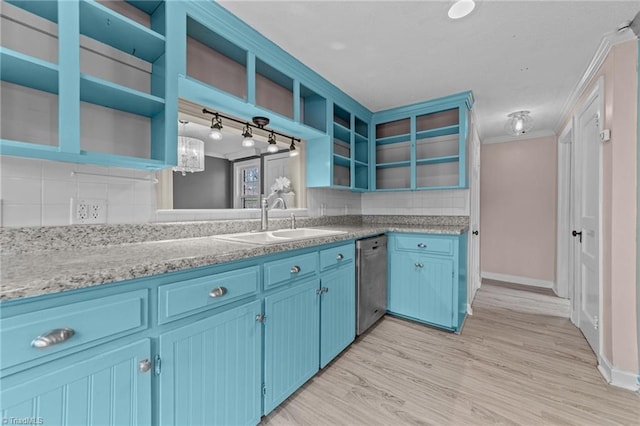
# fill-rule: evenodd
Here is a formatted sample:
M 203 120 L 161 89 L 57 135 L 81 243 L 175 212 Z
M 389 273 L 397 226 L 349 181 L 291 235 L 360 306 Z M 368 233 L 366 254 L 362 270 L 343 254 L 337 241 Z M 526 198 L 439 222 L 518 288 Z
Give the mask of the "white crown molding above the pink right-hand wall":
M 598 71 L 600 70 L 600 67 L 602 66 L 604 61 L 607 59 L 607 56 L 609 55 L 609 52 L 611 51 L 611 49 L 617 44 L 625 43 L 631 40 L 636 40 L 637 38 L 638 37 L 631 30 L 614 31 L 614 32 L 607 33 L 602 37 L 600 46 L 598 46 L 598 49 L 596 50 L 596 53 L 591 59 L 589 66 L 587 67 L 587 69 L 584 71 L 584 73 L 582 74 L 582 76 L 574 86 L 573 90 L 571 91 L 571 94 L 569 95 L 569 97 L 564 103 L 564 106 L 562 107 L 558 121 L 554 126 L 556 134 L 559 134 L 562 131 L 562 125 L 569 119 L 571 111 L 573 110 L 574 106 L 578 102 L 578 99 L 580 99 L 580 97 L 584 94 L 585 90 L 587 89 L 587 86 L 589 86 L 589 84 L 596 77 Z

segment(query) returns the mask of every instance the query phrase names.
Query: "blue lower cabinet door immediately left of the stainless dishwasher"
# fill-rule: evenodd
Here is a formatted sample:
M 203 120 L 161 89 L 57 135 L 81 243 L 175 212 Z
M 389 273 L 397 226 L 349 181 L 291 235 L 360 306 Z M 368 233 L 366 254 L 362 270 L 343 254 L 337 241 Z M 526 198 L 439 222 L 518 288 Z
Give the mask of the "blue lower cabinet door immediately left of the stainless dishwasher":
M 356 287 L 353 263 L 324 273 L 320 280 L 320 368 L 356 335 Z

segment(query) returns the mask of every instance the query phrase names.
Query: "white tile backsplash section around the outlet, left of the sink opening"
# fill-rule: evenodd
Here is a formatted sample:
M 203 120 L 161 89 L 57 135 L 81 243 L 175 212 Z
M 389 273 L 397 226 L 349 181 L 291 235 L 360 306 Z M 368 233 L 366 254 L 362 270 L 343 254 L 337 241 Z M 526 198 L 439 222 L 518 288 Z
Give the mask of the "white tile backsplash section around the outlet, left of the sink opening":
M 74 171 L 92 175 L 74 175 Z M 71 198 L 107 200 L 107 223 L 151 222 L 155 218 L 155 185 L 123 179 L 147 179 L 151 174 L 0 156 L 0 223 L 9 227 L 69 225 Z

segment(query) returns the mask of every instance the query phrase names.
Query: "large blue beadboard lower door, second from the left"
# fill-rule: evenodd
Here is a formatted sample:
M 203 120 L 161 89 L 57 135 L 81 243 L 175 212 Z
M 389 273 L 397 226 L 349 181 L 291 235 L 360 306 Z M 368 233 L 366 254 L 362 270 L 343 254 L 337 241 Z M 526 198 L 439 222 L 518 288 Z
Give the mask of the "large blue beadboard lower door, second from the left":
M 160 424 L 260 421 L 260 311 L 255 301 L 160 336 Z

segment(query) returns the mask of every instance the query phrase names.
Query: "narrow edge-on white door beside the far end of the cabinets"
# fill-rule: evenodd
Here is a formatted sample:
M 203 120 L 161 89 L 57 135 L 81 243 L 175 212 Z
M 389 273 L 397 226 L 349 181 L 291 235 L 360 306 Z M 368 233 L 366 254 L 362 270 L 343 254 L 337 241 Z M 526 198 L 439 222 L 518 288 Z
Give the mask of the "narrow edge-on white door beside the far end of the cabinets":
M 480 288 L 480 138 L 475 126 L 471 127 L 470 141 L 469 306 Z

